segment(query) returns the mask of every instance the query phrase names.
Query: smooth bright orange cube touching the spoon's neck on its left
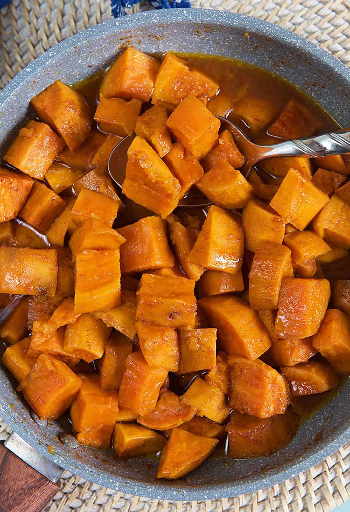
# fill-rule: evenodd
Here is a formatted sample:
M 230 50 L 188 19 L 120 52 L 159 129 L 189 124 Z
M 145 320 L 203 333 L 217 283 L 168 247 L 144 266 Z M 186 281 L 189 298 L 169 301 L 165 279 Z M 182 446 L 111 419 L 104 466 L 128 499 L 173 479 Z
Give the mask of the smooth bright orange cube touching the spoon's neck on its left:
M 216 144 L 220 121 L 195 96 L 188 96 L 170 115 L 167 126 L 174 137 L 200 160 Z

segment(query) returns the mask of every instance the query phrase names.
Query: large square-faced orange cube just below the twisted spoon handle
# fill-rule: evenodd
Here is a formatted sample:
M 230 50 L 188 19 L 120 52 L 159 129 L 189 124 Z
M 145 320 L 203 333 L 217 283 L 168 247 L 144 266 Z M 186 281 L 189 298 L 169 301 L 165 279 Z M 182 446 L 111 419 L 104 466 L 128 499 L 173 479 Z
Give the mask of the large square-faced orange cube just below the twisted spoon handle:
M 271 199 L 270 206 L 286 222 L 298 229 L 305 229 L 328 202 L 329 197 L 310 180 L 297 170 L 290 169 Z

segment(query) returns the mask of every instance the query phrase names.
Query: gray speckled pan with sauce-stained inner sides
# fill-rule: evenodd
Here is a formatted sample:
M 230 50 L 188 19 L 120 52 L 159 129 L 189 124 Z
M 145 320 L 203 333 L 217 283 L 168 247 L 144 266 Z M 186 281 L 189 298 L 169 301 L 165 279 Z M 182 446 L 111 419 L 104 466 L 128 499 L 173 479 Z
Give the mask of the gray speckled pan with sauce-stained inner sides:
M 111 20 L 66 39 L 21 71 L 0 92 L 0 154 L 29 113 L 29 100 L 60 78 L 73 83 L 106 67 L 125 46 L 145 52 L 197 52 L 235 57 L 295 83 L 341 125 L 350 125 L 350 72 L 306 39 L 259 19 L 223 11 L 171 9 Z M 0 262 L 1 264 L 1 262 Z M 57 440 L 65 421 L 39 425 L 0 368 L 0 416 L 36 450 L 93 482 L 168 500 L 205 500 L 250 493 L 305 471 L 350 439 L 350 382 L 306 421 L 281 452 L 257 460 L 212 458 L 174 482 L 155 480 L 155 459 L 120 461 L 111 451 L 69 448 Z M 48 451 L 51 445 L 53 450 Z

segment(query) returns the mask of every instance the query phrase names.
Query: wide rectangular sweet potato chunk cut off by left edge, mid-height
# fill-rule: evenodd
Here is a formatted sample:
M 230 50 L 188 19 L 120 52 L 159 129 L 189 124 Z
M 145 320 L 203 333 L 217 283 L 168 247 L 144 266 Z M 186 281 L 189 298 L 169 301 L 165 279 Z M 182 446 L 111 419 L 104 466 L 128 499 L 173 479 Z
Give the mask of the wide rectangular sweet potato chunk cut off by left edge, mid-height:
M 55 249 L 0 247 L 0 293 L 55 295 Z

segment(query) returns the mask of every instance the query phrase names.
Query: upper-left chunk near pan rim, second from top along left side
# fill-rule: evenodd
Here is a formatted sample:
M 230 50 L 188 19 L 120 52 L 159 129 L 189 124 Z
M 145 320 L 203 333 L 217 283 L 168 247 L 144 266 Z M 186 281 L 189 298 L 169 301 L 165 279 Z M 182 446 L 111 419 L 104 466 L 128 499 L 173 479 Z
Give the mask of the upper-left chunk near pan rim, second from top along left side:
M 4 160 L 32 178 L 43 180 L 64 142 L 48 124 L 30 120 L 19 130 Z

